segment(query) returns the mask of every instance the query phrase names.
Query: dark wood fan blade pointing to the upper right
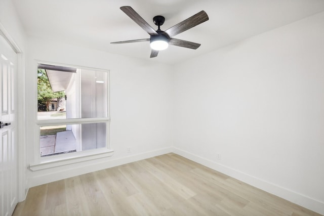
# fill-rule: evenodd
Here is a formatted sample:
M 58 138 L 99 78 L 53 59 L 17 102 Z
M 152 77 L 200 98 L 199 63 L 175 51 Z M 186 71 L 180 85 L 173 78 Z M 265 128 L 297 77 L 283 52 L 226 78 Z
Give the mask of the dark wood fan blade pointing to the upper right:
M 193 15 L 192 17 L 189 17 L 188 19 L 178 23 L 175 26 L 172 26 L 165 32 L 170 36 L 173 37 L 177 34 L 180 34 L 181 32 L 184 32 L 196 25 L 199 25 L 203 22 L 206 22 L 208 20 L 208 15 L 205 11 L 200 11 L 199 13 Z

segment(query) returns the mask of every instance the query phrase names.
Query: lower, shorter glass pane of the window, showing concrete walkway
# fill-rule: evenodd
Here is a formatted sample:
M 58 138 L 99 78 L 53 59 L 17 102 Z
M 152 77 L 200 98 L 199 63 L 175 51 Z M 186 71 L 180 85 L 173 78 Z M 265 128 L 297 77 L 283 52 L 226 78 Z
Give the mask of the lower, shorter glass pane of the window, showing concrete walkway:
M 106 147 L 106 123 L 41 126 L 41 156 Z

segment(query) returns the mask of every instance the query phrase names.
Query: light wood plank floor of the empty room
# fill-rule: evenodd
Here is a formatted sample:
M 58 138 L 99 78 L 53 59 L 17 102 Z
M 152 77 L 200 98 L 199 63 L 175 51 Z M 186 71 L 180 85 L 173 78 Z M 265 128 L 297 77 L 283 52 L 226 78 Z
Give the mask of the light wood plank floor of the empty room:
M 30 188 L 13 215 L 320 214 L 170 153 Z

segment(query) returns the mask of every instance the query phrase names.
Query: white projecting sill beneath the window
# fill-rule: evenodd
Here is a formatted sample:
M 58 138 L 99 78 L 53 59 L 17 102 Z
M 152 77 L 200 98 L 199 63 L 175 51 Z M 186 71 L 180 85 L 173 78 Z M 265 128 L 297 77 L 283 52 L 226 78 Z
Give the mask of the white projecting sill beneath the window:
M 72 163 L 99 159 L 103 157 L 110 157 L 113 155 L 113 152 L 114 151 L 111 149 L 105 149 L 104 151 L 101 150 L 100 152 L 87 151 L 86 155 L 85 154 L 80 155 L 80 152 L 75 152 L 75 154 L 68 153 L 68 156 L 67 155 L 60 155 L 59 157 L 51 156 L 51 158 L 46 158 L 46 159 L 42 158 L 39 163 L 30 164 L 29 169 L 32 171 L 37 171 L 37 170 L 48 169 L 57 166 L 64 166 Z

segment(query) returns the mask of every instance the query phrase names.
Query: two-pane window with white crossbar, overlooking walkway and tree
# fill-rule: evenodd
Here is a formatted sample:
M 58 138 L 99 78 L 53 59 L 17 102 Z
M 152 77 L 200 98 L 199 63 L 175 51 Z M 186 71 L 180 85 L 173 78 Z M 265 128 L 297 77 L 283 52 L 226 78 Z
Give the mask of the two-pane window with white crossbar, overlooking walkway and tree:
M 109 71 L 38 63 L 40 160 L 109 151 Z

